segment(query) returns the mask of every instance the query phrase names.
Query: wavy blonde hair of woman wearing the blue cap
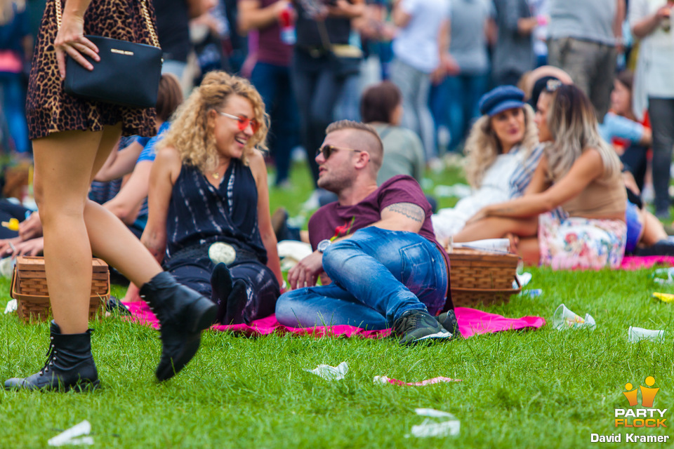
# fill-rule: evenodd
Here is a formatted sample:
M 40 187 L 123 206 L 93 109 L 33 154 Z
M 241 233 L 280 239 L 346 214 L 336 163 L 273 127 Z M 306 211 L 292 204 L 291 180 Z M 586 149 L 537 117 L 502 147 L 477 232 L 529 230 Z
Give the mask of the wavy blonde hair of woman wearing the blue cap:
M 520 146 L 524 151 L 524 156 L 529 157 L 531 150 L 538 145 L 538 130 L 534 123 L 534 109 L 531 109 L 529 105 L 524 105 L 522 109 L 524 109 L 524 137 Z M 470 187 L 480 188 L 484 173 L 502 151 L 501 142 L 498 141 L 494 129 L 491 128 L 491 117 L 483 115 L 477 119 L 473 128 L 470 128 L 470 134 L 465 140 L 463 149 L 468 159 L 465 177 Z

